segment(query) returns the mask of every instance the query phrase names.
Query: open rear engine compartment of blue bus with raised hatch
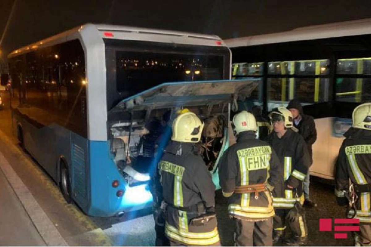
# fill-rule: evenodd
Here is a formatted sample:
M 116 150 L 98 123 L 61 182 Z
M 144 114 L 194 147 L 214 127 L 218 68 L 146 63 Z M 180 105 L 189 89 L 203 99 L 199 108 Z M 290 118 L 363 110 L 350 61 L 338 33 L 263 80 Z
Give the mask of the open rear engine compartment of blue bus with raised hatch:
M 214 174 L 229 145 L 231 103 L 250 97 L 259 81 L 164 83 L 120 101 L 108 113 L 107 135 L 112 159 L 127 185 L 148 184 L 171 139 L 171 124 L 185 108 L 204 122 L 196 151 Z

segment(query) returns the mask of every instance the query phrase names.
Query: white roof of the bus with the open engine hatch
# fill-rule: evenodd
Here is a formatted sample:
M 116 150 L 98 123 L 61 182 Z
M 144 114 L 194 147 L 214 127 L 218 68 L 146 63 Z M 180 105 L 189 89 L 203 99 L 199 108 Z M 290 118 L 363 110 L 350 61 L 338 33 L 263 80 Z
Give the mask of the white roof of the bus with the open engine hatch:
M 44 40 L 40 40 L 36 43 L 30 44 L 28 46 L 24 46 L 22 48 L 16 49 L 9 53 L 8 57 L 14 57 L 22 53 L 27 53 L 30 50 L 37 50 L 41 47 L 47 47 L 58 43 L 63 43 L 65 41 L 76 39 L 78 37 L 78 33 L 83 30 L 87 26 L 93 26 L 95 29 L 101 34 L 102 38 L 114 38 L 114 39 L 134 39 L 134 40 L 144 40 L 148 41 L 148 35 L 156 35 L 156 36 L 163 36 L 164 40 L 166 37 L 183 37 L 183 38 L 190 38 L 190 39 L 198 39 L 198 40 L 207 40 L 207 41 L 218 41 L 215 46 L 225 46 L 224 42 L 220 39 L 220 37 L 216 35 L 207 35 L 207 34 L 198 34 L 198 33 L 187 33 L 181 31 L 170 31 L 170 30 L 160 30 L 160 29 L 149 29 L 149 28 L 141 28 L 141 27 L 129 27 L 129 26 L 116 26 L 116 25 L 108 25 L 108 24 L 84 24 L 79 27 L 75 27 L 68 31 L 64 31 L 63 33 L 56 34 L 52 37 L 49 37 Z M 113 37 L 113 33 L 115 37 Z M 127 38 L 125 38 L 127 37 Z M 143 37 L 141 39 L 141 37 Z M 166 41 L 164 41 L 166 42 Z M 169 43 L 173 43 L 173 41 L 168 41 Z

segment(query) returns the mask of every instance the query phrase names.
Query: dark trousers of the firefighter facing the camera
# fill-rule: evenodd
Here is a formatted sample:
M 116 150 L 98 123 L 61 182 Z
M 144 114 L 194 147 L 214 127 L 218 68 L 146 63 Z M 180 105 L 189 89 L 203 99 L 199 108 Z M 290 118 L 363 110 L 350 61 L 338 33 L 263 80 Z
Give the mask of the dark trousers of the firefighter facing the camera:
M 290 209 L 276 209 L 276 215 L 273 217 L 273 230 L 283 231 L 287 226 L 290 228 L 293 236 L 306 237 L 308 230 L 305 222 L 305 215 L 299 216 L 293 222 L 286 222 L 286 216 Z

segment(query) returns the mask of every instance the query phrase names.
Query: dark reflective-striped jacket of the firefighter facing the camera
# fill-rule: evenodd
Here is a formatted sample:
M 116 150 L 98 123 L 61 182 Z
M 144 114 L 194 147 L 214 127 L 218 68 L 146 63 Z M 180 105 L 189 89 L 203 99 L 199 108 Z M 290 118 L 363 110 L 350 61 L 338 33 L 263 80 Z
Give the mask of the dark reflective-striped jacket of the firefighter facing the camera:
M 272 132 L 268 136 L 268 143 L 277 153 L 285 181 L 282 188 L 273 191 L 273 206 L 275 208 L 292 208 L 295 201 L 300 201 L 303 204 L 302 182 L 310 166 L 308 148 L 303 137 L 288 128 L 281 138 Z

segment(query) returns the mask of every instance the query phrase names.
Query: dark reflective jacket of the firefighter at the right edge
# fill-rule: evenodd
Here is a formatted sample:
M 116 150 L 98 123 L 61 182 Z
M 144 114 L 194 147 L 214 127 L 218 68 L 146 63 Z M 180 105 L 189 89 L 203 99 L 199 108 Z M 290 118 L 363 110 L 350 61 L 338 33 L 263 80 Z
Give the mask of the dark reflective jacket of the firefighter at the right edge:
M 360 222 L 371 223 L 371 131 L 349 128 L 344 134 L 335 173 L 335 196 L 341 205 L 348 204 L 344 191 L 349 191 L 349 178 L 355 187 L 362 187 L 355 203 Z M 354 215 L 354 210 L 349 213 Z

